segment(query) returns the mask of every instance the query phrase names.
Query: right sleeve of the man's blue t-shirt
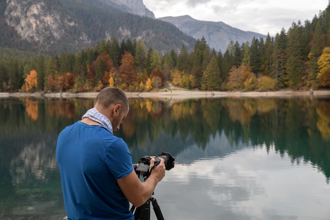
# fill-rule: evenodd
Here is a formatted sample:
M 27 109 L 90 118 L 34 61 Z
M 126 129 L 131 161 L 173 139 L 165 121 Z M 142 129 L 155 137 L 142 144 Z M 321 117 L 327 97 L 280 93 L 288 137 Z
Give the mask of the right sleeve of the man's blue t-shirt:
M 127 144 L 120 138 L 108 147 L 105 155 L 105 163 L 115 179 L 120 179 L 132 173 L 132 155 Z

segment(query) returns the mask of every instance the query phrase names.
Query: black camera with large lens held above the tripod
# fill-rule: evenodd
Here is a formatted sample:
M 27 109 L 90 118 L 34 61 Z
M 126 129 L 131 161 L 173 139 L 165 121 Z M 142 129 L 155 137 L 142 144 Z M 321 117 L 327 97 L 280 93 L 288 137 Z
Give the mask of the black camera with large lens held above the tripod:
M 165 170 L 171 170 L 174 168 L 175 165 L 175 158 L 170 154 L 163 152 L 159 154 L 158 157 L 155 158 L 154 166 L 159 165 L 160 163 L 160 158 L 164 159 L 164 164 L 165 164 Z M 135 167 L 135 172 L 137 174 L 140 174 L 144 177 L 149 176 L 149 167 L 150 167 L 150 162 L 151 162 L 151 157 L 150 156 L 144 156 L 139 159 L 139 165 Z

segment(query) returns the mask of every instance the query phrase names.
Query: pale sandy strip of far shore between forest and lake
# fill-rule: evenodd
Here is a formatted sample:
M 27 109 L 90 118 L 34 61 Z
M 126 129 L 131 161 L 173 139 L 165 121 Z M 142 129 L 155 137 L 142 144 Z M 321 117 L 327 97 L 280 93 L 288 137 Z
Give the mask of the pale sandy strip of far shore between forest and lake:
M 99 92 L 35 92 L 35 93 L 8 93 L 0 92 L 0 98 L 9 97 L 47 97 L 47 98 L 95 98 Z M 190 90 L 174 90 L 172 92 L 125 92 L 128 98 L 171 98 L 171 99 L 189 99 L 189 98 L 206 98 L 206 97 L 289 97 L 289 96 L 310 96 L 310 91 L 306 90 L 278 90 L 268 92 L 257 91 L 190 91 Z M 330 90 L 314 90 L 313 96 L 329 95 Z

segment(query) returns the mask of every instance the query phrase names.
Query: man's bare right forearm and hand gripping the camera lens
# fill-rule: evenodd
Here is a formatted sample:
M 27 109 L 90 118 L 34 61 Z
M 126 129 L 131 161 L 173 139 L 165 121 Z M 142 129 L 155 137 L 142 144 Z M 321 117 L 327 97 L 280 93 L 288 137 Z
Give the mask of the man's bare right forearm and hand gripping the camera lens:
M 154 165 L 155 159 L 150 161 L 150 168 Z M 149 169 L 150 169 L 149 168 Z M 143 205 L 152 195 L 157 183 L 165 176 L 164 159 L 160 158 L 159 165 L 155 166 L 145 182 L 141 182 L 133 171 L 127 176 L 117 179 L 117 183 L 124 193 L 126 199 L 135 207 Z

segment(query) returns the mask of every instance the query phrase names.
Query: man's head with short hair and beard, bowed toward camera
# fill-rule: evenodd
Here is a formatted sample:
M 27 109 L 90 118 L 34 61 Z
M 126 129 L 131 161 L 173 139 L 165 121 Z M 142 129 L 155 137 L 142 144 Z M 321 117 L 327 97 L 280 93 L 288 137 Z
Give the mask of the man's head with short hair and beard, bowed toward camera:
M 110 120 L 113 130 L 116 131 L 127 116 L 129 101 L 123 90 L 107 87 L 94 99 L 94 108 Z

